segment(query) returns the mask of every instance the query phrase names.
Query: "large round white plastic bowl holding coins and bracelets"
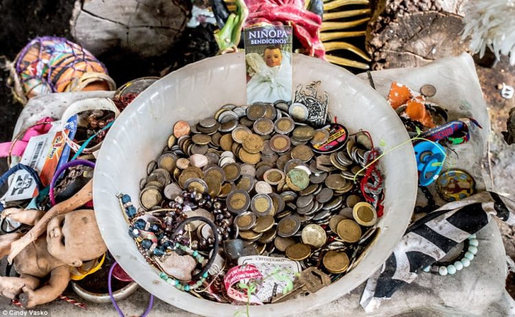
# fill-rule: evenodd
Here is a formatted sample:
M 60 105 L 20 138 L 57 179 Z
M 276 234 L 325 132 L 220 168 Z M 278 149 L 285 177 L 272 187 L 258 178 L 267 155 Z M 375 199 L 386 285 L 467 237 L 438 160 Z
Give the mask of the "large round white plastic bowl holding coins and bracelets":
M 349 131 L 371 133 L 374 144 L 386 149 L 409 139 L 395 111 L 368 83 L 349 71 L 316 58 L 295 54 L 293 87 L 321 81 L 319 91 L 329 94 L 330 112 Z M 159 278 L 128 235 L 116 193 L 128 193 L 139 207 L 139 180 L 146 165 L 159 156 L 173 124 L 190 124 L 214 115 L 223 104 L 245 104 L 244 55 L 207 58 L 174 71 L 141 93 L 115 121 L 100 150 L 93 178 L 95 213 L 106 245 L 141 287 L 163 301 L 205 316 L 233 316 L 245 305 L 221 304 L 176 290 Z M 385 215 L 380 237 L 361 263 L 323 290 L 285 303 L 250 307 L 251 316 L 284 316 L 307 312 L 349 293 L 363 283 L 389 257 L 407 228 L 417 191 L 417 170 L 411 143 L 381 158 L 385 174 Z

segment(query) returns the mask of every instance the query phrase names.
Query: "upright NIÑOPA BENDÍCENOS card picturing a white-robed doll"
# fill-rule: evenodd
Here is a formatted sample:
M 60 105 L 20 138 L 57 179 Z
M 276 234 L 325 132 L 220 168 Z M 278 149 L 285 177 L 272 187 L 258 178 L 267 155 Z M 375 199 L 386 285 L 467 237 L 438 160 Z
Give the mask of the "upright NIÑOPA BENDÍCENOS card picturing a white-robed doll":
M 292 99 L 293 30 L 266 25 L 244 30 L 247 104 Z

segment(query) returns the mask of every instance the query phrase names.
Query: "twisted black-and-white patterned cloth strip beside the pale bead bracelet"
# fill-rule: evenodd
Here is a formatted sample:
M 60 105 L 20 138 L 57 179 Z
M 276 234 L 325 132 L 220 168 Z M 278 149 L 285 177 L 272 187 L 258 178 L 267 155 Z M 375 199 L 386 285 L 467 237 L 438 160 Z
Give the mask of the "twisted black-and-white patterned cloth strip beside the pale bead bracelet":
M 417 278 L 418 272 L 442 259 L 450 249 L 477 233 L 492 216 L 515 224 L 515 202 L 492 191 L 450 202 L 407 229 L 382 268 L 368 281 L 360 304 L 373 311 L 400 287 Z

